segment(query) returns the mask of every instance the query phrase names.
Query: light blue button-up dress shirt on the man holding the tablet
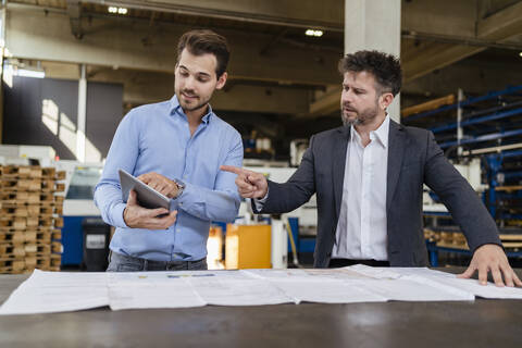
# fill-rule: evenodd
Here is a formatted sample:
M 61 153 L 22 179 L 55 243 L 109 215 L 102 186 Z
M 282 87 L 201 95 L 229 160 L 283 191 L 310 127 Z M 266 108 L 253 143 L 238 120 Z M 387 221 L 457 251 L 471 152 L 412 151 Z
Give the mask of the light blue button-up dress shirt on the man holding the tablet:
M 130 110 L 117 127 L 95 188 L 103 221 L 116 227 L 111 250 L 154 261 L 203 259 L 210 222 L 232 222 L 239 208 L 236 175 L 220 171 L 223 164 L 241 166 L 241 136 L 210 105 L 194 136 L 176 96 Z M 183 194 L 171 200 L 176 223 L 167 229 L 127 227 L 119 169 L 134 176 L 157 172 L 183 182 Z

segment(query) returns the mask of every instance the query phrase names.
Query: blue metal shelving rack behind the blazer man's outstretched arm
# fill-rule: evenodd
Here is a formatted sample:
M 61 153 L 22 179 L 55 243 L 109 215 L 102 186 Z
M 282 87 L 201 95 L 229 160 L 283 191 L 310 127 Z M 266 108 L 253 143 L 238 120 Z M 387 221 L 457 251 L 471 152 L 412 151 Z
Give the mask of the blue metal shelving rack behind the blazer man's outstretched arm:
M 413 114 L 402 122 L 432 130 L 456 164 L 480 158 L 483 183 L 487 184 L 484 203 L 500 228 L 514 228 L 509 240 L 519 233 L 522 241 L 522 85 L 469 98 L 459 90 L 457 102 Z M 426 215 L 433 219 L 434 213 Z M 438 213 L 438 224 L 452 223 L 447 213 Z M 427 248 L 433 265 L 438 264 L 438 251 L 470 253 L 463 246 L 437 247 L 433 240 L 427 241 Z M 508 257 L 520 259 L 521 250 L 507 249 Z

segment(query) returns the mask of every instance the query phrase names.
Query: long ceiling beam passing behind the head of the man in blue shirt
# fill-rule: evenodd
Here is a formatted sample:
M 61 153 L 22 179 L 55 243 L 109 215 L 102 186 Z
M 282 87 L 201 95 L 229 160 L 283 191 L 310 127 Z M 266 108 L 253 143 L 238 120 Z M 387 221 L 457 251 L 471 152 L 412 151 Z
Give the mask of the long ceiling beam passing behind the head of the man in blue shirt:
M 69 32 L 66 13 L 45 13 L 13 8 L 7 22 L 7 48 L 14 58 L 84 63 L 116 69 L 174 72 L 176 41 L 190 26 L 161 24 L 152 42 L 142 37 L 149 21 L 92 17 L 85 37 L 77 40 Z M 279 85 L 324 86 L 336 84 L 339 52 L 310 50 L 275 42 L 270 54 L 260 52 L 273 36 L 259 33 L 220 30 L 231 46 L 228 75 L 237 80 L 262 80 Z

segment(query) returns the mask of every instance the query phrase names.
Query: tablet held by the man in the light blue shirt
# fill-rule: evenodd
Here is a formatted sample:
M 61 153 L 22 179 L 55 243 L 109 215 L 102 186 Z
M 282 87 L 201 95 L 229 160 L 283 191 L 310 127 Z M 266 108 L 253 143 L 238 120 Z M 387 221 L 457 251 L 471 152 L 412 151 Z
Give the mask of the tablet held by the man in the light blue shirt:
M 120 170 L 120 184 L 122 185 L 122 198 L 124 202 L 128 200 L 128 194 L 132 189 L 136 191 L 138 204 L 147 209 L 165 208 L 171 210 L 171 200 L 158 192 L 144 182 L 140 182 L 124 170 Z

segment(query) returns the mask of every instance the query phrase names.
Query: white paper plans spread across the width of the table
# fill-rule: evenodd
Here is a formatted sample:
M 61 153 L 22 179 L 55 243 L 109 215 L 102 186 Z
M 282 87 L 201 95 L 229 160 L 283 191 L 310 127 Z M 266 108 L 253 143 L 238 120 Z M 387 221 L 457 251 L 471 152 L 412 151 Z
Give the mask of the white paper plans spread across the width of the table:
M 50 313 L 110 306 L 113 310 L 206 304 L 261 306 L 522 299 L 521 288 L 482 286 L 428 269 L 243 270 L 135 273 L 35 271 L 0 314 Z

